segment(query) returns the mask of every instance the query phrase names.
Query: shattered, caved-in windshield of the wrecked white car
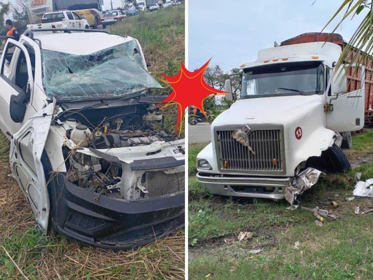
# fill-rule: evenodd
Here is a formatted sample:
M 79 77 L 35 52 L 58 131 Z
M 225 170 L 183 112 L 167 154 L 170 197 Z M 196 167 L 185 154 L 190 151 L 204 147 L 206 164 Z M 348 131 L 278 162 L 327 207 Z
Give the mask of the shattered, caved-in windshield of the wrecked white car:
M 111 98 L 162 86 L 147 72 L 135 40 L 90 55 L 42 49 L 43 87 L 57 100 Z

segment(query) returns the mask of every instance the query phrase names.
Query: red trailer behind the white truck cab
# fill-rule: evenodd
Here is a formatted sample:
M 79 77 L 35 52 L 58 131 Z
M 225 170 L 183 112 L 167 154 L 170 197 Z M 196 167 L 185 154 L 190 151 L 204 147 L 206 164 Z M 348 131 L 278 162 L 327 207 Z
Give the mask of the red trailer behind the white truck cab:
M 294 38 L 287 39 L 281 42 L 281 46 L 310 43 L 310 42 L 331 42 L 341 46 L 342 50 L 347 45 L 347 42 L 343 40 L 340 34 L 331 33 L 304 33 Z M 354 56 L 358 52 L 357 49 L 351 51 L 345 63 L 351 63 Z M 361 55 L 364 55 L 361 52 Z M 372 56 L 365 56 L 362 64 L 365 67 L 365 123 L 373 124 L 373 77 L 372 77 Z M 349 69 L 347 74 L 348 79 L 348 91 L 359 89 L 361 86 L 361 73 L 360 71 L 356 74 L 354 67 Z

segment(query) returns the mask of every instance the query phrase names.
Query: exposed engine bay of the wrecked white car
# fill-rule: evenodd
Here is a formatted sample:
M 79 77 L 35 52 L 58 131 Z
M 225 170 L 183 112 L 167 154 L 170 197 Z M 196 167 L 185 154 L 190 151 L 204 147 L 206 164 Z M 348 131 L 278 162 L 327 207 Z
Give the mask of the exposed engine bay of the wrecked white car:
M 177 145 L 178 136 L 165 128 L 165 117 L 154 104 L 71 113 L 57 123 L 65 130 L 66 138 L 75 144 L 73 149 L 63 147 L 67 180 L 95 192 L 95 199 L 106 195 L 139 200 L 184 190 L 183 165 L 131 170 L 126 162 L 111 161 L 79 150 L 85 148 L 99 155 L 106 155 L 108 151 L 115 155 L 120 151 L 128 155 L 135 147 L 152 145 L 159 148 L 142 152 L 141 159 L 183 156 L 184 144 Z M 170 148 L 165 149 L 167 146 Z M 136 155 L 142 150 L 145 149 L 137 148 Z

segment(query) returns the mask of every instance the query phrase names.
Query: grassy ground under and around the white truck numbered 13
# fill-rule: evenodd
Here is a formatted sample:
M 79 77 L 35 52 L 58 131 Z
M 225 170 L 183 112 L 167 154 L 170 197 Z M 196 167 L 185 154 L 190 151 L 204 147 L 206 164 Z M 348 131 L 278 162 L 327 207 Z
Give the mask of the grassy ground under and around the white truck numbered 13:
M 373 177 L 373 131 L 355 135 L 353 143 L 345 153 L 355 168 L 328 174 L 303 194 L 306 207 L 329 209 L 330 201 L 338 203 L 334 212 L 340 219 L 322 227 L 310 212 L 286 210 L 286 201 L 209 195 L 190 175 L 190 278 L 373 278 L 373 213 L 354 214 L 356 206 L 362 212 L 373 208 L 373 199 L 345 201 L 352 196 L 356 172 L 362 172 L 362 180 Z M 202 147 L 190 147 L 190 171 Z M 239 232 L 253 237 L 239 242 Z M 262 251 L 253 254 L 252 249 Z

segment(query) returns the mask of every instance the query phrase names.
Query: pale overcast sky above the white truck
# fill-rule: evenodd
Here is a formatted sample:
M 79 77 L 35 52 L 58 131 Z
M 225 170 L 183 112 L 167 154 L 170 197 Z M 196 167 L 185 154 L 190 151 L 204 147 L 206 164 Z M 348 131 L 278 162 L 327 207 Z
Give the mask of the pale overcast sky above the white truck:
M 320 32 L 342 0 L 189 0 L 189 70 L 212 57 L 228 71 L 256 60 L 258 50 L 306 32 Z M 349 40 L 363 15 L 336 31 Z M 340 19 L 340 17 L 339 17 Z M 326 29 L 331 32 L 335 23 Z

